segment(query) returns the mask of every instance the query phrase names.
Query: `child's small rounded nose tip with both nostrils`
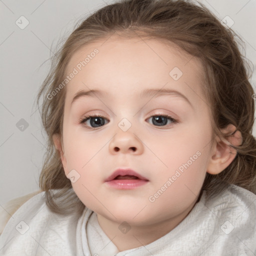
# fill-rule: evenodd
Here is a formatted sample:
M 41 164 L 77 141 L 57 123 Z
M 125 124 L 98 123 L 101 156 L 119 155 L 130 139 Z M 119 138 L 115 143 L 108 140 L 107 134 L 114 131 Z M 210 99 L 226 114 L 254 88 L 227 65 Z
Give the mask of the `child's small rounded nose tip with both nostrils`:
M 131 131 L 119 130 L 109 143 L 109 151 L 116 153 L 141 154 L 143 152 L 142 141 Z

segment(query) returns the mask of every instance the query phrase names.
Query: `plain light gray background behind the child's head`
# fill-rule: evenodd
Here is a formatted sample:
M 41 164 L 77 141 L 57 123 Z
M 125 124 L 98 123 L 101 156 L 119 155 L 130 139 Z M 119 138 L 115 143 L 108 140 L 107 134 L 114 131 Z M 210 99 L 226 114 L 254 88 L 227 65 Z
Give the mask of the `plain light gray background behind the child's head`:
M 39 189 L 46 141 L 34 100 L 50 67 L 50 49 L 54 50 L 60 37 L 69 35 L 78 19 L 112 2 L 0 0 L 0 205 Z M 200 2 L 219 19 L 231 17 L 234 21 L 231 28 L 245 42 L 245 56 L 256 66 L 256 0 Z M 24 29 L 15 23 L 21 15 L 29 21 Z M 253 88 L 255 76 L 254 71 Z M 16 127 L 21 118 L 28 123 L 23 131 Z

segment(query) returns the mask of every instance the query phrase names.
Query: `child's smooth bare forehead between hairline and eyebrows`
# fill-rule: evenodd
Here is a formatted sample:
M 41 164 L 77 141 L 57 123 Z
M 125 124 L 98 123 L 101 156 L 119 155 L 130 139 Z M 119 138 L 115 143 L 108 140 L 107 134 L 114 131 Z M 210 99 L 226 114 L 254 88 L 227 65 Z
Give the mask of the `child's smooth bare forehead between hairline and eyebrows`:
M 66 74 L 74 69 L 77 74 L 66 86 L 69 101 L 81 89 L 101 89 L 113 96 L 164 86 L 187 91 L 194 100 L 202 95 L 200 60 L 166 40 L 113 37 L 93 41 L 74 52 Z

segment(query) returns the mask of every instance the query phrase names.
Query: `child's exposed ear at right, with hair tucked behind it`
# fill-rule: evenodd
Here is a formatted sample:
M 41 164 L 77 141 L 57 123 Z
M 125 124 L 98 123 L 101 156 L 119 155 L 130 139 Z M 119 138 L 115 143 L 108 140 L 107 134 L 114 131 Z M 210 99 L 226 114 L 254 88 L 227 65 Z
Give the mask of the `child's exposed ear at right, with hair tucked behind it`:
M 225 128 L 221 129 L 223 133 L 232 133 L 225 138 L 217 136 L 214 141 L 214 146 L 211 150 L 211 158 L 208 163 L 207 172 L 210 174 L 218 174 L 224 170 L 236 156 L 236 149 L 230 146 L 238 146 L 242 143 L 242 135 L 239 130 L 235 131 L 233 124 L 228 124 Z M 235 131 L 235 132 L 234 132 Z

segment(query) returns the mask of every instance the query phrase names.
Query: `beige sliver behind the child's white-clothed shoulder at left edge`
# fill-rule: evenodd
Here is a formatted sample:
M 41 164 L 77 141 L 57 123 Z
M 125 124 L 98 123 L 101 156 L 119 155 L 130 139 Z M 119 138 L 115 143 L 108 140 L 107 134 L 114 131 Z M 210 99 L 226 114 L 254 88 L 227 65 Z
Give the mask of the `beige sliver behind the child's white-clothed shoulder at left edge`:
M 4 226 L 14 214 L 14 212 L 26 201 L 28 201 L 34 195 L 41 193 L 40 190 L 35 192 L 26 194 L 24 196 L 16 197 L 14 199 L 9 200 L 5 204 L 0 207 L 0 234 L 2 233 Z

